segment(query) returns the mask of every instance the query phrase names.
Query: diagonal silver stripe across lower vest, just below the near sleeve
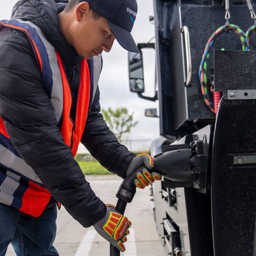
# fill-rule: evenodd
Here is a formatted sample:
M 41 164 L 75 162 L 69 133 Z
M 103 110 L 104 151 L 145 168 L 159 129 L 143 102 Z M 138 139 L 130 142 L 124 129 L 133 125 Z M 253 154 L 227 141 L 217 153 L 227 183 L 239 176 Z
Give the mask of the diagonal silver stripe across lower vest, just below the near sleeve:
M 0 146 L 0 163 L 4 166 L 17 171 L 18 173 L 28 177 L 29 179 L 42 183 L 33 169 L 25 163 L 25 161 L 17 157 L 14 153 L 12 153 L 9 149 L 6 149 L 4 146 Z

